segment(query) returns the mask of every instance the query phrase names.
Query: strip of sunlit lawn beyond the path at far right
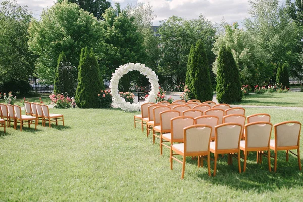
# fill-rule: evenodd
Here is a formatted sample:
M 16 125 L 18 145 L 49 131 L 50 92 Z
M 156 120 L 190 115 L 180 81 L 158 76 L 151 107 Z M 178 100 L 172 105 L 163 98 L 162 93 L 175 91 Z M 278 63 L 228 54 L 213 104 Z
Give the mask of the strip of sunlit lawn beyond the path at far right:
M 263 105 L 263 106 L 285 106 L 285 107 L 303 107 L 302 92 L 287 93 L 265 93 L 247 95 L 242 99 L 239 105 Z

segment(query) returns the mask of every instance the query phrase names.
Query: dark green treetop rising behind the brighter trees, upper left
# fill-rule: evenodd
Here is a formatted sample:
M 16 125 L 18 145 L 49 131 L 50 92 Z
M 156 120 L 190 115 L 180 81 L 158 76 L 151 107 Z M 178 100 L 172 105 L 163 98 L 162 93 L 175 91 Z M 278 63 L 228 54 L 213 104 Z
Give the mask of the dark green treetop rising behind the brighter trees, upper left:
M 58 0 L 58 3 L 62 2 L 63 0 Z M 111 7 L 111 3 L 106 0 L 68 0 L 68 2 L 76 3 L 80 9 L 92 13 L 98 20 L 102 20 L 102 14 Z

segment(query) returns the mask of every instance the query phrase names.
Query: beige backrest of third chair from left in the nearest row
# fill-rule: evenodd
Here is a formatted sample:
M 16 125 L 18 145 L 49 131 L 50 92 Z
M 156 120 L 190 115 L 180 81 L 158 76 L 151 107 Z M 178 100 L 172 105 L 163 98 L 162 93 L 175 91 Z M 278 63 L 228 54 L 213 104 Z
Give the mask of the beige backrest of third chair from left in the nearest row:
M 269 147 L 273 124 L 264 121 L 245 125 L 245 147 Z

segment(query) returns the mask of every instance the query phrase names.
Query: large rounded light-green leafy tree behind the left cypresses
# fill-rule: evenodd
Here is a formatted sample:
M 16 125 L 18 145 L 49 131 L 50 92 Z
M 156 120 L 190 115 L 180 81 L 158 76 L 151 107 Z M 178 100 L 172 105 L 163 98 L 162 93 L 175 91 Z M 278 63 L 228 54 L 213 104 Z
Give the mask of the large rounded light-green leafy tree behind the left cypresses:
M 93 47 L 97 58 L 103 58 L 104 30 L 100 22 L 66 0 L 43 11 L 39 21 L 33 19 L 28 32 L 29 48 L 39 56 L 36 64 L 39 77 L 51 83 L 55 78 L 56 59 L 62 51 L 75 66 L 84 47 Z

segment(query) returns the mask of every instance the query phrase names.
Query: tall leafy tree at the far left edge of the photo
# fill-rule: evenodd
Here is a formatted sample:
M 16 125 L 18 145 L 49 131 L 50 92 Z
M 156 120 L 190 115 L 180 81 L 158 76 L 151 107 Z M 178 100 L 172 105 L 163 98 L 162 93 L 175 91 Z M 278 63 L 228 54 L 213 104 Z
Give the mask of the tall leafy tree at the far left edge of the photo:
M 28 49 L 32 15 L 16 1 L 3 1 L 0 6 L 0 92 L 26 93 L 28 78 L 35 69 L 36 57 Z

